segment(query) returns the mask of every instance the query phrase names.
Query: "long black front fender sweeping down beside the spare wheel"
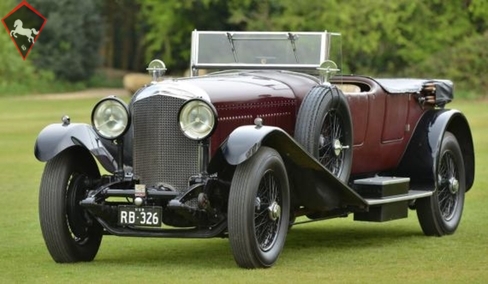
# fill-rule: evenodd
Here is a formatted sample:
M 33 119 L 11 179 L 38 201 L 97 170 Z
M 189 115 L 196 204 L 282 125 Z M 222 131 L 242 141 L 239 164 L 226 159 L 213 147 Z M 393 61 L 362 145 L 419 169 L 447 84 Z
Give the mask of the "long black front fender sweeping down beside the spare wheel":
M 293 194 L 297 196 L 300 205 L 316 210 L 367 206 L 363 198 L 324 168 L 281 128 L 241 126 L 229 135 L 220 151 L 228 164 L 239 165 L 261 146 L 271 147 L 283 157 L 290 181 L 296 183 Z M 303 176 L 313 179 L 312 182 L 307 185 L 300 183 Z

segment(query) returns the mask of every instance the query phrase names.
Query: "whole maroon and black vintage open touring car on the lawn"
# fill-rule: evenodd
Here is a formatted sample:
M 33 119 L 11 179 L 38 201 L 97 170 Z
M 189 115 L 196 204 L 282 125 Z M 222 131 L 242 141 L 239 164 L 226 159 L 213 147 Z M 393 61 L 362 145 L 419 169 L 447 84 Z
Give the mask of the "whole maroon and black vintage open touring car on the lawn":
M 154 60 L 130 102 L 108 96 L 91 125 L 44 128 L 52 258 L 91 261 L 103 235 L 225 237 L 239 266 L 263 268 L 295 224 L 409 209 L 425 235 L 454 233 L 475 169 L 469 124 L 445 108 L 452 82 L 340 75 L 338 38 L 194 31 L 192 76 Z

